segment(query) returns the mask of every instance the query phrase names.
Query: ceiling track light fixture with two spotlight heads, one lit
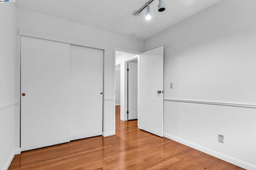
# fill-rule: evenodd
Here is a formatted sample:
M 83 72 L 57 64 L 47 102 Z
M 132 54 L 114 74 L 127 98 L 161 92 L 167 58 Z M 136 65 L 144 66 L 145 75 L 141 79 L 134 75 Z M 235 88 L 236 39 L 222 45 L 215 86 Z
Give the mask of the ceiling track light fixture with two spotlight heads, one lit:
M 149 0 L 144 6 L 142 6 L 139 10 L 135 10 L 132 15 L 134 16 L 138 16 L 142 10 L 144 10 L 145 8 L 147 8 L 147 12 L 146 12 L 146 20 L 150 20 L 152 18 L 151 16 L 151 12 L 150 12 L 150 4 L 153 2 L 154 0 Z M 159 0 L 159 4 L 158 4 L 158 11 L 159 12 L 163 12 L 165 10 L 165 4 L 164 4 L 164 0 Z

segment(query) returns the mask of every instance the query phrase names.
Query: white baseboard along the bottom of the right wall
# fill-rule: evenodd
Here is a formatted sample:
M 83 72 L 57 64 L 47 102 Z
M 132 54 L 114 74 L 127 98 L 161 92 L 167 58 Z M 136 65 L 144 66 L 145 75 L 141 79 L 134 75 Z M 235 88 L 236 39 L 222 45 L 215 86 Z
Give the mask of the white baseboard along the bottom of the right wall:
M 194 143 L 191 143 L 189 141 L 186 141 L 184 139 L 180 139 L 178 137 L 175 137 L 175 136 L 172 136 L 172 135 L 169 135 L 167 133 L 164 133 L 164 137 L 168 138 L 168 139 L 171 139 L 173 141 L 176 141 L 178 143 L 182 143 L 188 147 L 191 147 L 191 148 L 194 148 L 196 150 L 199 150 L 201 152 L 204 152 L 206 154 L 209 154 L 211 156 L 214 156 L 216 158 L 220 158 L 222 160 L 225 160 L 227 162 L 230 162 L 232 164 L 235 164 L 237 166 L 240 166 L 242 168 L 245 168 L 247 170 L 256 170 L 256 166 L 255 165 L 252 165 L 252 164 L 249 164 L 247 162 L 244 162 L 242 160 L 238 160 L 236 158 L 233 158 L 231 156 L 228 156 L 228 155 L 225 155 L 225 154 L 222 154 L 222 153 L 219 153 L 219 152 L 216 152 L 214 150 L 211 150 L 211 149 L 208 149 L 208 148 L 205 148 L 205 147 L 202 147 L 200 145 L 196 145 Z

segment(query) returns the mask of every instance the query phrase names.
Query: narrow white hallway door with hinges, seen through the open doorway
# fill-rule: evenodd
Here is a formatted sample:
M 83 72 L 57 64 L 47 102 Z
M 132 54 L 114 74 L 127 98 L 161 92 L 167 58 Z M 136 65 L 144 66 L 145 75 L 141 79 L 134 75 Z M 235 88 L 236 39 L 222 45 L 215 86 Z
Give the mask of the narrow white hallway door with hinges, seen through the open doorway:
M 128 120 L 138 119 L 138 63 L 128 62 Z

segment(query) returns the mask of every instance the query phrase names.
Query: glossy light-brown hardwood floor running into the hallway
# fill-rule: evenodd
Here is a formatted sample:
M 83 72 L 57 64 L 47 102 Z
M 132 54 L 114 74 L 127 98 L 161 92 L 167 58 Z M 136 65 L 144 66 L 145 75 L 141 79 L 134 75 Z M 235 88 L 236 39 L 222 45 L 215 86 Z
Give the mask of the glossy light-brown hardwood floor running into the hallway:
M 240 170 L 238 166 L 167 138 L 139 130 L 137 120 L 120 121 L 116 135 L 80 139 L 22 152 L 9 169 L 20 170 Z

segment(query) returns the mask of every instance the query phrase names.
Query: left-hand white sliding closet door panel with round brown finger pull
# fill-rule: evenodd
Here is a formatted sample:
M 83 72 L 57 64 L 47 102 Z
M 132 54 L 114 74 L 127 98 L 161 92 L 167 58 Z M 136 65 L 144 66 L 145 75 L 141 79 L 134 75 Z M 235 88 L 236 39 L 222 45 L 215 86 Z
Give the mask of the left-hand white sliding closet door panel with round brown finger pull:
M 70 45 L 21 36 L 21 150 L 70 141 Z

